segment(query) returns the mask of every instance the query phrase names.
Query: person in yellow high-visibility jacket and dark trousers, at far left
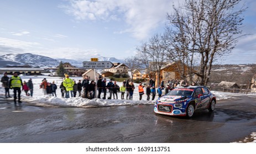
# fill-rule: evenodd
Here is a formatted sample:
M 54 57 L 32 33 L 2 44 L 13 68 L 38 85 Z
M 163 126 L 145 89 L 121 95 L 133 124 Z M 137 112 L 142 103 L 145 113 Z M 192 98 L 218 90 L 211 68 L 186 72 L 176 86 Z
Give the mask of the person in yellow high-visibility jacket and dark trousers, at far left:
M 22 92 L 20 90 L 20 87 L 22 87 L 22 90 L 23 90 L 23 85 L 22 85 L 22 79 L 18 76 L 18 72 L 13 73 L 13 76 L 9 81 L 9 87 L 10 89 L 13 89 L 13 92 L 14 92 L 14 103 L 16 103 L 17 92 L 18 92 L 18 102 L 22 103 L 22 101 L 20 101 L 20 93 Z

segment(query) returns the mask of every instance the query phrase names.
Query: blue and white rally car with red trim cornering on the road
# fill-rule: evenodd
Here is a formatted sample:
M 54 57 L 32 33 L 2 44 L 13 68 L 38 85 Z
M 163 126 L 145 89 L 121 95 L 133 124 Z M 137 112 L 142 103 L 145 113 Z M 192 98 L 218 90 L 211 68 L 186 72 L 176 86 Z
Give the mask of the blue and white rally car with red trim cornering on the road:
M 216 97 L 205 86 L 176 87 L 155 102 L 154 112 L 170 116 L 192 117 L 196 110 L 213 111 Z

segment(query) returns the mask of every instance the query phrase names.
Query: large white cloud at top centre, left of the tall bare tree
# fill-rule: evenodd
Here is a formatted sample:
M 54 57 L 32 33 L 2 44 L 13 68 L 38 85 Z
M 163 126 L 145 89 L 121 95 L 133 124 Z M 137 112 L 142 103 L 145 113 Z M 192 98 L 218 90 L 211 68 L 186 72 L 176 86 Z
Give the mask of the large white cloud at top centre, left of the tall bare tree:
M 129 32 L 138 40 L 147 38 L 164 21 L 171 10 L 170 0 L 70 0 L 70 5 L 62 5 L 65 12 L 77 20 L 123 20 L 126 21 Z M 121 18 L 121 19 L 120 19 Z M 118 34 L 118 32 L 115 32 Z

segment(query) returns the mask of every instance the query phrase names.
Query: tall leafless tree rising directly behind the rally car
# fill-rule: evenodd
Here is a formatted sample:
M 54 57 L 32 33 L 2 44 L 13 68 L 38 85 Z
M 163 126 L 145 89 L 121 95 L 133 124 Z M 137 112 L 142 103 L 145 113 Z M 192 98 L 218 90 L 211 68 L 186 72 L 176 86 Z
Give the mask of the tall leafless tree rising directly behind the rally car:
M 180 37 L 175 40 L 180 45 L 177 43 L 179 47 L 174 49 L 200 58 L 200 67 L 195 73 L 201 85 L 207 85 L 216 58 L 230 53 L 241 37 L 241 15 L 246 8 L 236 9 L 239 2 L 241 0 L 187 0 L 183 8 L 174 7 L 174 14 L 168 14 L 171 26 L 177 31 L 175 37 Z M 190 65 L 192 63 L 190 61 Z

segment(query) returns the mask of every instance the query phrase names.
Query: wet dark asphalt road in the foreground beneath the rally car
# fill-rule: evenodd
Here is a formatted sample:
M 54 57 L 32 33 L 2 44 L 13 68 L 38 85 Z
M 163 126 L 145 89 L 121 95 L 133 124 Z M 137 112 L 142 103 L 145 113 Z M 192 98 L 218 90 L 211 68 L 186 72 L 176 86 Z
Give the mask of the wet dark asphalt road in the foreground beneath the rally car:
M 153 105 L 47 108 L 0 98 L 0 142 L 235 142 L 256 131 L 256 98 L 218 101 L 191 119 L 155 114 Z

